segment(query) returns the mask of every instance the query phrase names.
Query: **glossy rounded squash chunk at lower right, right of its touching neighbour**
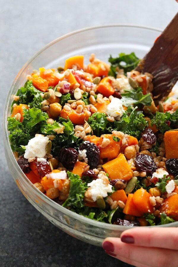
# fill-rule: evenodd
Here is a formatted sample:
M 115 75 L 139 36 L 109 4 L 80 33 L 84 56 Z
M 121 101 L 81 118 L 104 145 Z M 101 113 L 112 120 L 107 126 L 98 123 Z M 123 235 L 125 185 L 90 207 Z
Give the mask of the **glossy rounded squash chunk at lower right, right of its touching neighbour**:
M 133 202 L 136 208 L 142 213 L 153 213 L 153 206 L 150 204 L 150 194 L 143 188 L 136 190 Z

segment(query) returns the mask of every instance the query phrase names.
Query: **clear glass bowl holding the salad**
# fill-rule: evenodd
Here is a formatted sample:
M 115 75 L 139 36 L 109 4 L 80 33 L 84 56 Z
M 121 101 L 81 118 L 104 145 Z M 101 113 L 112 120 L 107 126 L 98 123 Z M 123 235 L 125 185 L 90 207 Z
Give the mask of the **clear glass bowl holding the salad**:
M 85 63 L 88 63 L 91 53 L 95 53 L 97 58 L 106 62 L 110 54 L 115 57 L 120 52 L 135 52 L 142 58 L 158 35 L 160 30 L 133 25 L 110 25 L 71 32 L 54 40 L 34 55 L 17 74 L 7 95 L 3 121 L 5 155 L 17 186 L 28 201 L 55 226 L 93 245 L 101 246 L 104 238 L 119 237 L 130 227 L 85 218 L 55 203 L 34 187 L 18 166 L 9 144 L 7 117 L 11 112 L 12 96 L 24 85 L 26 75 L 34 69 L 42 66 L 64 66 L 65 59 L 73 55 L 84 55 Z M 178 222 L 162 225 L 164 226 L 178 226 Z

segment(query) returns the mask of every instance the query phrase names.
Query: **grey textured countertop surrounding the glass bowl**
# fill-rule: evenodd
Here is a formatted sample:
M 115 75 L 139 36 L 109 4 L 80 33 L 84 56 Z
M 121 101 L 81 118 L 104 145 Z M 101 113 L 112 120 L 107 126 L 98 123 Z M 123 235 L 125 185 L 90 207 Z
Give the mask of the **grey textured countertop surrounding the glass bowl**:
M 175 0 L 31 0 L 28 3 L 1 0 L 0 4 L 0 114 L 18 71 L 53 39 L 83 27 L 104 24 L 163 29 L 178 10 Z M 74 239 L 47 221 L 15 185 L 4 156 L 2 134 L 0 153 L 1 267 L 130 266 L 108 256 L 102 248 Z

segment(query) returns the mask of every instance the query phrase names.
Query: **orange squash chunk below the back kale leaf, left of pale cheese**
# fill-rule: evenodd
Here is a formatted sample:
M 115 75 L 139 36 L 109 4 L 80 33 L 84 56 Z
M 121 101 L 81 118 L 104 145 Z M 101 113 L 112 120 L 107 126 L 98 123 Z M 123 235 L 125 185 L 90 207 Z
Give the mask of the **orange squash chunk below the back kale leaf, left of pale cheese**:
M 97 86 L 97 90 L 104 97 L 114 94 L 115 90 L 111 85 L 112 81 L 108 77 L 104 77 Z

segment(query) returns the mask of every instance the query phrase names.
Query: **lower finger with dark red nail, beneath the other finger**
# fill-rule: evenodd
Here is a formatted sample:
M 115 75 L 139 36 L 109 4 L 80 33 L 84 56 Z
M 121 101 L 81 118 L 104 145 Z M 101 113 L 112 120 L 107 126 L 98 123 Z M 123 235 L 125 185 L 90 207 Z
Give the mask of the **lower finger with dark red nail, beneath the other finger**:
M 106 238 L 103 248 L 105 251 L 115 254 L 117 259 L 125 257 L 128 260 L 139 262 L 143 266 L 177 267 L 178 253 L 176 250 L 135 246 L 123 243 L 117 237 Z

